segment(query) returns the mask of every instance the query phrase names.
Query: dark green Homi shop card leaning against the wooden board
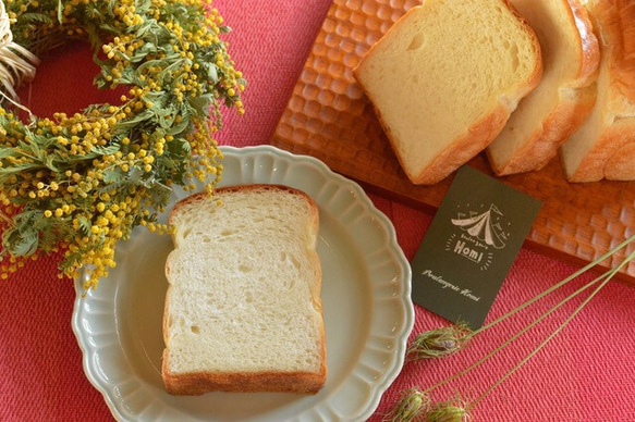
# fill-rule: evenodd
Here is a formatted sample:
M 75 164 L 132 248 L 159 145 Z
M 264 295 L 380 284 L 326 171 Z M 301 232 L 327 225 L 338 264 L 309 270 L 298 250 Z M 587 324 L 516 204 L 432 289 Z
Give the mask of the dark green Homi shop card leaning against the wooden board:
M 539 209 L 538 200 L 461 167 L 413 260 L 413 301 L 480 327 Z

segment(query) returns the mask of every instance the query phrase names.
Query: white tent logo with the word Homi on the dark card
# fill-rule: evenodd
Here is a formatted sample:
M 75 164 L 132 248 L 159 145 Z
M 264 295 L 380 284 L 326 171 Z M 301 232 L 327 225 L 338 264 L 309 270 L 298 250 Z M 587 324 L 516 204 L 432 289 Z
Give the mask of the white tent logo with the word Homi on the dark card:
M 451 219 L 459 232 L 450 235 L 445 250 L 474 262 L 485 271 L 493 261 L 493 251 L 505 247 L 511 223 L 493 203 L 489 208 L 485 204 L 459 208 L 456 216 Z

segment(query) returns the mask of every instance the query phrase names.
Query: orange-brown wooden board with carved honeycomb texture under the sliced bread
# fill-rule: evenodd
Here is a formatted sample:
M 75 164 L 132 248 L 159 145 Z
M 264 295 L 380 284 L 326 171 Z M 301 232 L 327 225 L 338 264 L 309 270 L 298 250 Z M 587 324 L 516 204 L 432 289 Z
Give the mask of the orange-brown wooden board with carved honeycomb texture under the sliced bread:
M 415 186 L 402 172 L 352 69 L 415 0 L 334 0 L 306 60 L 271 144 L 319 158 L 334 171 L 392 198 L 433 212 L 452 176 Z M 425 111 L 423 111 L 425 112 Z M 490 174 L 483 156 L 469 165 Z M 635 233 L 635 184 L 569 184 L 559 160 L 539 172 L 500 177 L 544 202 L 527 237 L 534 249 L 569 262 L 590 262 Z M 628 246 L 605 266 L 614 265 Z M 635 263 L 620 274 L 635 284 Z

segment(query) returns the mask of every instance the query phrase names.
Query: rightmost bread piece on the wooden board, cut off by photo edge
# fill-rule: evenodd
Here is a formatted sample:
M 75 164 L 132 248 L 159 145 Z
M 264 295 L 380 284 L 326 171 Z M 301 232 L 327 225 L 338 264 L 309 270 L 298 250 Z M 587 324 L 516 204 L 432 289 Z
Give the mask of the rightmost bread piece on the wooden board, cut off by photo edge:
M 635 2 L 587 3 L 600 40 L 598 99 L 561 149 L 570 182 L 635 179 Z

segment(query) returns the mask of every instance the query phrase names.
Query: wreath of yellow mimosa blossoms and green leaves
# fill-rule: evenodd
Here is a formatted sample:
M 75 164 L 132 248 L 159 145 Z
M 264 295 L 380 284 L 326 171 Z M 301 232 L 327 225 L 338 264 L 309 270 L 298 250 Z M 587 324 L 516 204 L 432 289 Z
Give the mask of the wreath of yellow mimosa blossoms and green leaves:
M 84 288 L 96 287 L 135 226 L 169 231 L 157 215 L 171 186 L 219 181 L 221 107 L 244 112 L 245 80 L 220 39 L 229 28 L 197 0 L 9 0 L 7 11 L 16 45 L 40 55 L 88 41 L 97 87 L 127 87 L 121 103 L 74 115 L 23 123 L 0 108 L 0 276 L 59 252 L 60 276 L 89 265 Z

